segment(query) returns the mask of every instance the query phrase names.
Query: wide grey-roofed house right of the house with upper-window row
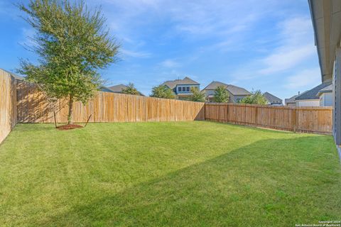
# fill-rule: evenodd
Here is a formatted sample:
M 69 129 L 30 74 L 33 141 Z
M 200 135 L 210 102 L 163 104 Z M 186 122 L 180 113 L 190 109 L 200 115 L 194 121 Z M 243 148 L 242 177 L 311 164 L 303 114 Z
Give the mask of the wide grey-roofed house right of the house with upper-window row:
M 229 93 L 229 102 L 238 103 L 240 100 L 244 99 L 246 96 L 249 96 L 251 93 L 242 87 L 237 87 L 232 84 L 224 84 L 222 82 L 213 81 L 207 85 L 202 92 L 205 92 L 206 100 L 214 102 L 215 89 L 217 87 L 224 87 Z

